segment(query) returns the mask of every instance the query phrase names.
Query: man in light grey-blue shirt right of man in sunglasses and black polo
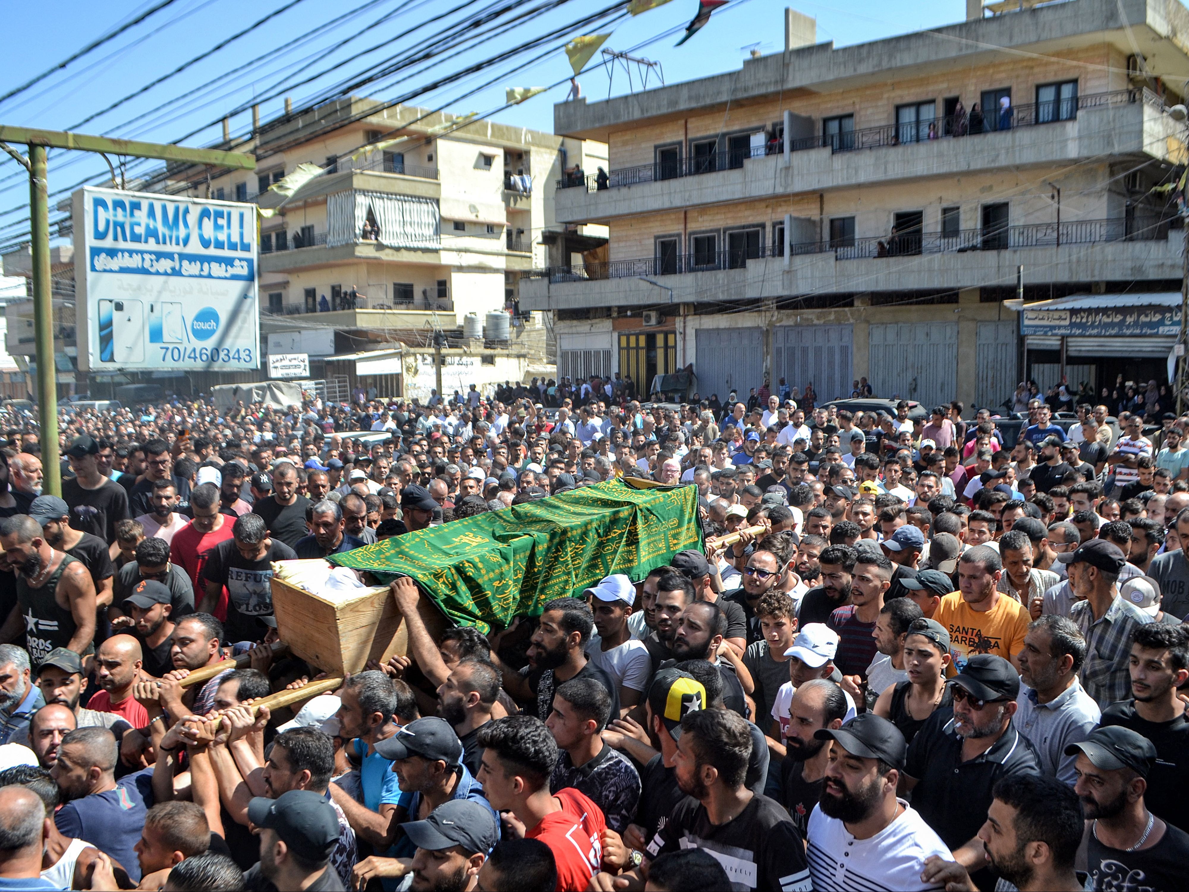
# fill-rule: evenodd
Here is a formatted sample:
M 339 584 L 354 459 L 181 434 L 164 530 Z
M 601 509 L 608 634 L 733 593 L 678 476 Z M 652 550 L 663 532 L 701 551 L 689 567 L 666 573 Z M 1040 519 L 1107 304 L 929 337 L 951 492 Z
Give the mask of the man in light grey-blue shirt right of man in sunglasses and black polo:
M 1102 715 L 1077 680 L 1086 639 L 1071 620 L 1042 616 L 1028 626 L 1018 659 L 1015 727 L 1036 747 L 1042 773 L 1072 786 L 1077 758 L 1065 747 L 1086 740 Z

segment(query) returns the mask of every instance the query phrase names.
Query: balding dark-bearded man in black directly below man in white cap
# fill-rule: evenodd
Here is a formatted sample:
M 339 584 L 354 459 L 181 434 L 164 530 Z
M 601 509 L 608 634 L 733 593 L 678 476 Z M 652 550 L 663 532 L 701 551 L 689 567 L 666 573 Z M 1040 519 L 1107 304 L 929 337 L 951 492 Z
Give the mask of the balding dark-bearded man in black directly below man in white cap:
M 788 809 L 801 836 L 809 830 L 813 806 L 822 799 L 830 761 L 826 741 L 817 740 L 813 734 L 823 728 L 841 728 L 847 709 L 842 689 L 824 678 L 803 684 L 789 703 L 780 802 Z

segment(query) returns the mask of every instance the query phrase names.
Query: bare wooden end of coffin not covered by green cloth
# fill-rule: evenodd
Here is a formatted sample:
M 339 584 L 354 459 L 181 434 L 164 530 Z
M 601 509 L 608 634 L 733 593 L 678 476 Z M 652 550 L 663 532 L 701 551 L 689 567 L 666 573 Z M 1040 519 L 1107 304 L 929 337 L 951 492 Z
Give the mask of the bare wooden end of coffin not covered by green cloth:
M 391 592 L 314 595 L 272 577 L 272 608 L 281 640 L 306 662 L 332 676 L 361 672 L 369 660 L 405 655 L 408 633 Z M 423 595 L 417 613 L 436 640 L 446 617 Z

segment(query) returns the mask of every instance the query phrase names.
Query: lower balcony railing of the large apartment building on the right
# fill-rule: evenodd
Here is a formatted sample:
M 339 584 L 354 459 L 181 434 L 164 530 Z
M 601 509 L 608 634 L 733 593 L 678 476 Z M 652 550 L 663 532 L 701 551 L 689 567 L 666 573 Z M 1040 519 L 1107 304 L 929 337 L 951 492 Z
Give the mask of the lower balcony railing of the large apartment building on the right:
M 912 257 L 918 255 L 961 253 L 965 251 L 1004 251 L 1015 247 L 1056 247 L 1103 241 L 1153 241 L 1169 234 L 1169 221 L 1127 231 L 1125 220 L 1075 220 L 1023 226 L 987 226 L 979 230 L 921 232 L 904 230 L 889 235 L 833 241 L 805 241 L 792 245 L 793 255 L 833 253 L 835 259 Z M 529 275 L 548 277 L 551 282 L 583 282 L 603 278 L 638 278 L 672 276 L 709 270 L 743 269 L 748 260 L 784 256 L 784 246 L 760 246 L 759 250 L 706 251 L 633 260 L 610 260 L 566 266 L 551 266 Z

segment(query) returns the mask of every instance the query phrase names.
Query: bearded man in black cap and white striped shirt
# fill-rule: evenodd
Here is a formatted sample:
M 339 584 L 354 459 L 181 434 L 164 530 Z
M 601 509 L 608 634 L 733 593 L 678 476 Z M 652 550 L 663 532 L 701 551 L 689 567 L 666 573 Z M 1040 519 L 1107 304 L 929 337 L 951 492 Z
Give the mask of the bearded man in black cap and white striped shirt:
M 900 729 L 872 712 L 813 733 L 832 741 L 822 800 L 810 816 L 814 888 L 936 888 L 921 880 L 929 858 L 949 848 L 895 794 L 907 746 Z

